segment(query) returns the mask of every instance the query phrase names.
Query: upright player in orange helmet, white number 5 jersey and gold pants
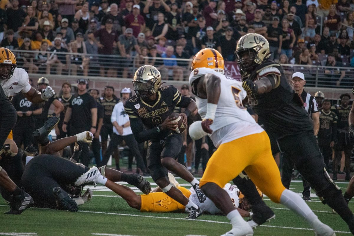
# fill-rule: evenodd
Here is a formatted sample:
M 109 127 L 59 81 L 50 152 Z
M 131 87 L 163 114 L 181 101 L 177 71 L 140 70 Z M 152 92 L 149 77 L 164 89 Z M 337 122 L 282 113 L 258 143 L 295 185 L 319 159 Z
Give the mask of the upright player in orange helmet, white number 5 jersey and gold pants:
M 209 134 L 218 148 L 200 180 L 202 191 L 227 216 L 232 230 L 224 235 L 252 236 L 253 230 L 222 188 L 243 170 L 270 200 L 302 217 L 319 236 L 334 236 L 304 200 L 281 183 L 267 133 L 242 106 L 246 91 L 242 83 L 223 75 L 224 60 L 211 48 L 199 51 L 192 62 L 189 84 L 195 95 L 201 122 L 191 125 L 192 134 Z

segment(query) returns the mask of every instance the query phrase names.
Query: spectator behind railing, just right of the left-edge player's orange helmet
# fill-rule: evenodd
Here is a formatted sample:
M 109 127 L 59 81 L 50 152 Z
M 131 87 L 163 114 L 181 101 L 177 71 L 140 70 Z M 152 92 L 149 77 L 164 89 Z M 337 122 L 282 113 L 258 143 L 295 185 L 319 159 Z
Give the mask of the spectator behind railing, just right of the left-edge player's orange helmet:
M 18 48 L 19 50 L 32 51 L 31 40 L 25 38 L 23 44 Z M 34 53 L 33 52 L 20 52 L 17 57 L 17 65 L 28 71 L 29 74 L 37 73 L 38 67 L 33 63 Z

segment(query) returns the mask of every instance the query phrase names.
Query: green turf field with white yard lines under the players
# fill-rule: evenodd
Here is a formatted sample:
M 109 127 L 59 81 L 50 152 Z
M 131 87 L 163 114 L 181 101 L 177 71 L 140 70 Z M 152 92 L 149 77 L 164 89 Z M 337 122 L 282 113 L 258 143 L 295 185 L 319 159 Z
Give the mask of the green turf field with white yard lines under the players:
M 152 179 L 148 178 L 150 183 Z M 185 183 L 177 179 L 179 183 Z M 345 190 L 347 183 L 338 185 Z M 154 187 L 156 185 L 152 185 Z M 52 209 L 30 208 L 21 215 L 0 214 L 0 235 L 221 235 L 231 229 L 226 217 L 220 215 L 202 215 L 197 220 L 185 220 L 187 213 L 141 213 L 130 208 L 127 203 L 103 186 L 89 186 L 93 190 L 90 202 L 80 206 L 79 212 L 64 212 Z M 296 192 L 302 191 L 302 182 L 293 182 L 290 186 Z M 136 189 L 136 188 L 133 188 Z M 138 190 L 137 190 L 138 191 Z M 137 192 L 138 193 L 138 192 Z M 138 193 L 140 194 L 140 193 Z M 272 203 L 264 197 L 268 206 L 276 214 L 275 220 L 255 229 L 255 236 L 307 236 L 314 235 L 302 219 L 282 205 Z M 330 225 L 337 236 L 350 235 L 342 219 L 331 213 L 317 197 L 312 197 L 308 205 L 319 219 Z M 354 204 L 350 204 L 352 210 Z M 0 199 L 0 212 L 9 209 Z

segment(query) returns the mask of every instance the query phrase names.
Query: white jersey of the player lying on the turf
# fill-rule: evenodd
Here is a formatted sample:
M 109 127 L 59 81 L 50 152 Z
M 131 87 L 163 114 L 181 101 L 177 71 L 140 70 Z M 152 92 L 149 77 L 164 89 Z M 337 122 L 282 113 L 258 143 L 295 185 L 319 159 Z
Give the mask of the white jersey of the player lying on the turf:
M 238 188 L 236 185 L 225 184 L 224 190 L 229 194 L 231 201 L 234 203 L 235 207 L 239 206 L 239 196 L 238 196 Z M 210 214 L 222 214 L 219 208 L 215 206 L 215 204 L 209 199 L 206 198 L 204 202 L 199 202 L 197 194 L 195 193 L 193 187 L 189 190 L 192 194 L 189 196 L 189 200 L 194 202 L 197 206 L 202 209 L 203 212 L 208 212 Z

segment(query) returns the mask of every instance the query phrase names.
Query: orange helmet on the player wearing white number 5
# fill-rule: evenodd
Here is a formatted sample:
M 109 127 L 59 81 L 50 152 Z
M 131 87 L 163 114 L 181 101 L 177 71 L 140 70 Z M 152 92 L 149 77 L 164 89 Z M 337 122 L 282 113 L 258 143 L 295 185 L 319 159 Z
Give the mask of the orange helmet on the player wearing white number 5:
M 195 54 L 191 69 L 210 68 L 224 74 L 224 58 L 217 50 L 213 48 L 204 48 Z

